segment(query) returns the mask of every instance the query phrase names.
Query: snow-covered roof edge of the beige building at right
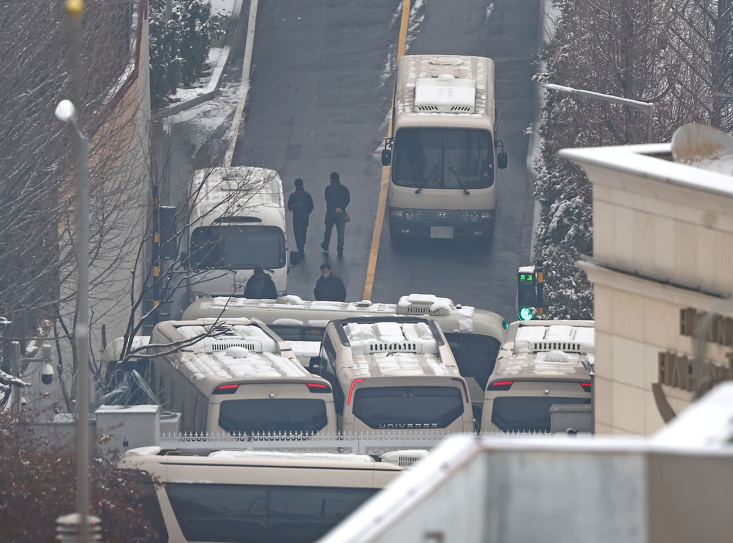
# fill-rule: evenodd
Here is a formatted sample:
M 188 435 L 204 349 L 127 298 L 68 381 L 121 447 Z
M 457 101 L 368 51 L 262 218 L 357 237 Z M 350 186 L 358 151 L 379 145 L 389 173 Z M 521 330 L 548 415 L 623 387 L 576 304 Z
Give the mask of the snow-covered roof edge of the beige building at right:
M 671 144 L 560 149 L 558 155 L 580 166 L 600 166 L 649 180 L 733 198 L 733 177 L 650 156 L 664 153 L 671 153 Z

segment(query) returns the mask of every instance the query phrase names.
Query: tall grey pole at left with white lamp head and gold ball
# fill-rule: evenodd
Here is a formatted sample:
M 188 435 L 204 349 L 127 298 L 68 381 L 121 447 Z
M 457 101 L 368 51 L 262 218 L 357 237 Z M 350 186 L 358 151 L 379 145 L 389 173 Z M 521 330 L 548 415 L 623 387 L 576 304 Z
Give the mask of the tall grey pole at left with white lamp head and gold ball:
M 99 519 L 89 517 L 89 138 L 81 132 L 75 104 L 81 104 L 81 15 L 84 0 L 66 0 L 65 7 L 71 19 L 71 98 L 56 106 L 56 118 L 73 128 L 77 139 L 76 155 L 76 213 L 75 249 L 78 267 L 76 290 L 76 514 L 59 517 L 59 536 L 78 534 L 79 543 L 97 540 Z M 92 524 L 93 528 L 90 527 Z

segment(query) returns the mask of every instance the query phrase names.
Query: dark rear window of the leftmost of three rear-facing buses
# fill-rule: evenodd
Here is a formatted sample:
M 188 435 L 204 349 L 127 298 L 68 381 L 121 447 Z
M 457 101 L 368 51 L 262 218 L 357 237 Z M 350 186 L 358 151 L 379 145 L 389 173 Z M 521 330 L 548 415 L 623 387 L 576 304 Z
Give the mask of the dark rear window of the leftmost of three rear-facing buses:
M 219 405 L 219 426 L 230 434 L 310 433 L 318 432 L 327 423 L 322 399 L 231 399 Z

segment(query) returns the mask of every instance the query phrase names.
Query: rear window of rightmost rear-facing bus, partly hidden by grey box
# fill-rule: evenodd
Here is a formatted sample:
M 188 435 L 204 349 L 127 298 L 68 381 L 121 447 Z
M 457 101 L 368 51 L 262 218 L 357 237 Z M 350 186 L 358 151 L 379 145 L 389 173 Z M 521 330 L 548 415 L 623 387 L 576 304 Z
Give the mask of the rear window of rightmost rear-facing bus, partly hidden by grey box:
M 494 399 L 491 421 L 502 432 L 550 432 L 550 407 L 590 402 L 590 398 L 499 396 Z

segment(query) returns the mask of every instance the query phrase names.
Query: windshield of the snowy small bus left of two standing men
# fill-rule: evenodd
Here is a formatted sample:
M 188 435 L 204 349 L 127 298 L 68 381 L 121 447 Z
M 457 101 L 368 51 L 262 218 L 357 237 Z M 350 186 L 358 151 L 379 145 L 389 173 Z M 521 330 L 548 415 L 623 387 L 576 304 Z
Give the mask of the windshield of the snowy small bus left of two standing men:
M 285 265 L 285 235 L 277 226 L 199 226 L 191 233 L 187 267 L 251 270 Z

